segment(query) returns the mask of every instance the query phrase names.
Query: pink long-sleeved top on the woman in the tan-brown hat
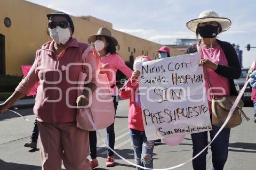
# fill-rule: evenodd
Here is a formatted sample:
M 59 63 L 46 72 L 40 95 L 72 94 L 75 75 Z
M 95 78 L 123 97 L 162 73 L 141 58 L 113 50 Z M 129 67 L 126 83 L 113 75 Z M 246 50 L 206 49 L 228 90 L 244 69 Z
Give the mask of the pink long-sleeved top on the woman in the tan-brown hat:
M 124 63 L 123 59 L 117 54 L 108 53 L 106 56 L 101 57 L 100 62 L 100 70 L 102 73 L 107 74 L 110 86 L 117 83 L 117 69 L 122 71 L 122 73 L 128 78 L 130 78 L 133 73 L 133 71 Z M 112 96 L 117 95 L 118 89 L 117 86 L 115 86 L 114 88 L 112 88 Z

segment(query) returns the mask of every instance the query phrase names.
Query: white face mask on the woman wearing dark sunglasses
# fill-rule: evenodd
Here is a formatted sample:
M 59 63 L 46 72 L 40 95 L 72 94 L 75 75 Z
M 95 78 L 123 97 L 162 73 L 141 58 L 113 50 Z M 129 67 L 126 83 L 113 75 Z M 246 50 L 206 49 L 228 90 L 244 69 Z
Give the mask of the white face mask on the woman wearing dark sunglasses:
M 71 37 L 69 28 L 61 28 L 57 26 L 54 29 L 49 28 L 50 37 L 57 44 L 66 44 L 69 38 Z

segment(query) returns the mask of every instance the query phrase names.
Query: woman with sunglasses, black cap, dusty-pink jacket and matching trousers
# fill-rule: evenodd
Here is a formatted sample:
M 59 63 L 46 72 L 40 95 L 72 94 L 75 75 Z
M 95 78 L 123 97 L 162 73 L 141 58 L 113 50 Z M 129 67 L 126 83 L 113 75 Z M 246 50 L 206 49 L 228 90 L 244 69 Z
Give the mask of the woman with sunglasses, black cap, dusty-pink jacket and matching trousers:
M 74 25 L 69 15 L 55 12 L 47 17 L 48 32 L 53 41 L 36 51 L 32 68 L 11 97 L 0 104 L 0 114 L 39 82 L 33 111 L 38 120 L 42 169 L 61 169 L 63 160 L 66 169 L 90 170 L 86 159 L 89 155 L 89 131 L 76 127 L 76 106 L 88 105 L 89 92 L 84 91 L 77 97 L 77 90 L 72 88 L 77 88 L 79 73 L 85 72 L 92 77 L 85 87 L 95 91 L 98 53 L 89 44 L 72 38 Z M 86 49 L 89 53 L 85 62 L 92 66 L 92 70 L 72 64 L 82 64 L 82 54 Z

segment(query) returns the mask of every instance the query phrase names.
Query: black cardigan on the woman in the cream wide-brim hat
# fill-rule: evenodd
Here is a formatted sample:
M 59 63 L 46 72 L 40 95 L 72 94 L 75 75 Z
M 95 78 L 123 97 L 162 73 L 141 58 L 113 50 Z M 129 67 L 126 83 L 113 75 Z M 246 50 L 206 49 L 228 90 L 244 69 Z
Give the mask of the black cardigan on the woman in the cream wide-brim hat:
M 220 47 L 222 48 L 226 56 L 228 66 L 218 64 L 218 67 L 215 70 L 215 72 L 217 74 L 222 75 L 223 77 L 228 78 L 230 84 L 230 95 L 237 96 L 238 93 L 236 91 L 234 79 L 239 78 L 241 75 L 241 67 L 238 61 L 238 56 L 236 54 L 234 47 L 230 43 L 220 40 L 217 40 L 217 42 L 220 44 Z M 201 41 L 199 42 L 199 44 L 200 43 Z M 197 48 L 196 44 L 193 44 L 186 49 L 185 54 L 195 52 L 197 52 Z

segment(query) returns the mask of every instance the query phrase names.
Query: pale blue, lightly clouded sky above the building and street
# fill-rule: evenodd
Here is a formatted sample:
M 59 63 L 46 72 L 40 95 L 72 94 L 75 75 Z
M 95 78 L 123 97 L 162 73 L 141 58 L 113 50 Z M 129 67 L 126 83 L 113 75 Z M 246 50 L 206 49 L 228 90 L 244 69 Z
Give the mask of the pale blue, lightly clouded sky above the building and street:
M 160 44 L 176 38 L 195 38 L 186 22 L 205 10 L 232 21 L 218 39 L 240 45 L 243 67 L 256 59 L 256 1 L 253 0 L 27 0 L 73 16 L 91 15 L 113 24 L 113 29 Z

